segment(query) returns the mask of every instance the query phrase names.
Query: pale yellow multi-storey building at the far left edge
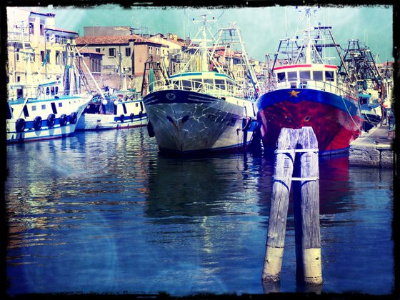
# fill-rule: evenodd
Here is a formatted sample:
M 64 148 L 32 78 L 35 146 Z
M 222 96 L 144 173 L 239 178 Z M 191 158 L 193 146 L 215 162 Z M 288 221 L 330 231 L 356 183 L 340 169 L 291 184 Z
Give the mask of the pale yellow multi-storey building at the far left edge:
M 61 78 L 69 55 L 66 44 L 74 44 L 78 33 L 56 29 L 52 13 L 7 7 L 6 15 L 9 84 Z

